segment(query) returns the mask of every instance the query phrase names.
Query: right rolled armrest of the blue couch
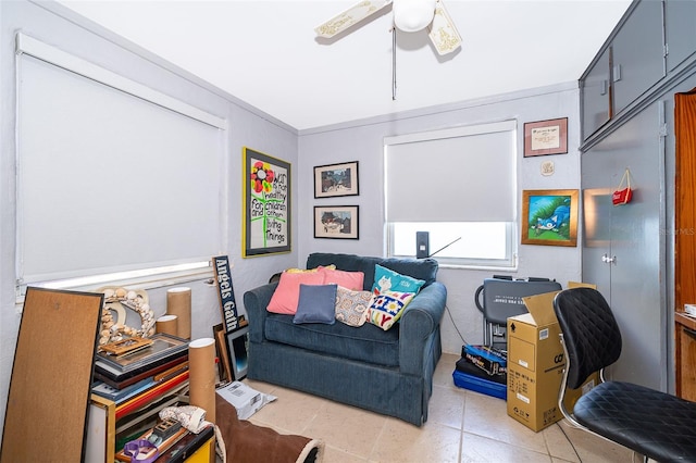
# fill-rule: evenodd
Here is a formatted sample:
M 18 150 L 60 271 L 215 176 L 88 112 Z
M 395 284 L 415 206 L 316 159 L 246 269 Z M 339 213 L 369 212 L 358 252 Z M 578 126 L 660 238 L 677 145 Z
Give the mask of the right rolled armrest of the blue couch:
M 402 373 L 423 374 L 426 339 L 439 326 L 447 289 L 439 281 L 423 288 L 406 306 L 399 321 L 399 365 Z

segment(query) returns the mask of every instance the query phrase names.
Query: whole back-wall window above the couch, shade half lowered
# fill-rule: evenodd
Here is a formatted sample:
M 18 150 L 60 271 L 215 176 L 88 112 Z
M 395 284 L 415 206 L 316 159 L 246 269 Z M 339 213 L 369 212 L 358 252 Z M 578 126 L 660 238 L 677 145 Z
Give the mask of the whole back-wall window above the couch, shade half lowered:
M 414 256 L 417 233 L 440 264 L 513 267 L 517 123 L 385 139 L 388 255 Z

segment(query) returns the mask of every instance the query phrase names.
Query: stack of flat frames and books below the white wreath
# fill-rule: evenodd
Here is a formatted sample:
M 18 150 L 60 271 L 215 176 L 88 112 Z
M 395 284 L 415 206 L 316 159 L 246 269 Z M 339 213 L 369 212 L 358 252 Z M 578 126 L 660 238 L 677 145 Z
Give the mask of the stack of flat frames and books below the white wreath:
M 102 347 L 95 361 L 91 391 L 115 402 L 116 420 L 188 380 L 188 340 L 160 333 L 128 341 L 135 349 Z

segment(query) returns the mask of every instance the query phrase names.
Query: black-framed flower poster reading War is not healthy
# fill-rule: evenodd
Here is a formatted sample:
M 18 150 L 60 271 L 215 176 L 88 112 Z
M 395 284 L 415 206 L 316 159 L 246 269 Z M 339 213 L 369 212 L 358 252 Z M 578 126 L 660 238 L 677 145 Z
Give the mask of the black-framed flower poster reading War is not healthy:
M 244 147 L 244 258 L 290 252 L 290 164 Z

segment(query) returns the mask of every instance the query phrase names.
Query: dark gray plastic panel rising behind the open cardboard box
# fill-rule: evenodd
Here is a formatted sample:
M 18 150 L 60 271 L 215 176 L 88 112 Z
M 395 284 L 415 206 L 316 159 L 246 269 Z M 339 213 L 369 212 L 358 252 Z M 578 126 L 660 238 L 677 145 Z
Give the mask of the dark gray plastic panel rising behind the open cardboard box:
M 500 278 L 483 280 L 483 316 L 489 323 L 505 325 L 508 317 L 526 313 L 522 298 L 560 291 L 558 281 L 525 281 Z

